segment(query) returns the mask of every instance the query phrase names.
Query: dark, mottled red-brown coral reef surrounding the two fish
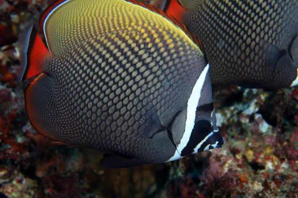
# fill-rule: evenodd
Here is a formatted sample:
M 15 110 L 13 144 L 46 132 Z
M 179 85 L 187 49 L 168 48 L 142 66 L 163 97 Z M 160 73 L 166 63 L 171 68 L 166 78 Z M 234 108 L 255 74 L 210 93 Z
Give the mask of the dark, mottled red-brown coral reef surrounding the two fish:
M 214 86 L 224 147 L 165 164 L 105 168 L 103 152 L 38 135 L 15 81 L 16 46 L 51 2 L 0 0 L 0 198 L 298 198 L 296 88 Z

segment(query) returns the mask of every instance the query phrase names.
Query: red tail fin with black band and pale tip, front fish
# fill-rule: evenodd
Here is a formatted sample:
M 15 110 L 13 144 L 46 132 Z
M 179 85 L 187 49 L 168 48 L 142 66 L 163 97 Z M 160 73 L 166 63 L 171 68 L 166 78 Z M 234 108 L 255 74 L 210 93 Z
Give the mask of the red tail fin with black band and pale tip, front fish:
M 23 34 L 19 37 L 18 50 L 21 58 L 19 82 L 42 73 L 41 65 L 50 52 L 32 23 L 25 28 Z

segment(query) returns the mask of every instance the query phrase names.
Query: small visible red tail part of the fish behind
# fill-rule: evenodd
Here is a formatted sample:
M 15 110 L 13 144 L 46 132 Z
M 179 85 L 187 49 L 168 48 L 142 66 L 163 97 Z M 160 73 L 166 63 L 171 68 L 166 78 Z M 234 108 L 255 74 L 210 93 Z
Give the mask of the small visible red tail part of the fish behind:
M 168 15 L 172 15 L 180 23 L 183 22 L 183 13 L 185 8 L 179 3 L 178 0 L 167 0 L 164 11 Z

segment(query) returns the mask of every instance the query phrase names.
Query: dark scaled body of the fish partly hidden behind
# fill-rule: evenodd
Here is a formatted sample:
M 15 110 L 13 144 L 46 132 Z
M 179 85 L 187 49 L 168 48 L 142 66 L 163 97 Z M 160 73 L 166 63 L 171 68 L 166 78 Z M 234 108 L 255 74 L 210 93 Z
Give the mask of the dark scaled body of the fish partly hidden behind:
M 288 50 L 298 34 L 298 1 L 201 0 L 184 23 L 203 42 L 212 83 L 281 87 L 296 79 L 297 66 L 274 68 L 268 52 L 271 44 Z

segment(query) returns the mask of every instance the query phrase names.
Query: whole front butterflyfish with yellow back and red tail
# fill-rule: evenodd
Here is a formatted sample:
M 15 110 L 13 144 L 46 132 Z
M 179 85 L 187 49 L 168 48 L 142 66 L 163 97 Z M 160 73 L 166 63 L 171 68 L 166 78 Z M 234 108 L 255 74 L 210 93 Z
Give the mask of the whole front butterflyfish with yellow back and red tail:
M 162 163 L 221 148 L 200 41 L 133 0 L 58 0 L 20 40 L 31 125 L 101 164 Z

